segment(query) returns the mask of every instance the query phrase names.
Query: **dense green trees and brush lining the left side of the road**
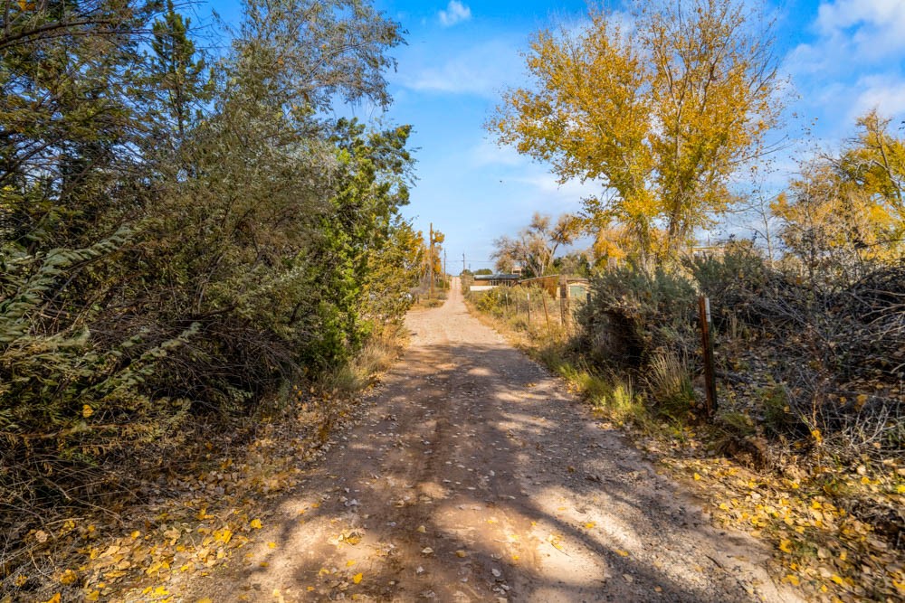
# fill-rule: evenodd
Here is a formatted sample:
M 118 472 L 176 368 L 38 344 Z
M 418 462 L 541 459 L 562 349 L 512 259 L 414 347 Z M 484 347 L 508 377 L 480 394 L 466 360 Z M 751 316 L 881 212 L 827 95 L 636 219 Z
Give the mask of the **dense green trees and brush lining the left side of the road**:
M 247 0 L 212 52 L 173 2 L 0 20 L 0 600 L 98 600 L 176 571 L 189 512 L 219 532 L 182 571 L 221 562 L 277 442 L 395 354 L 410 128 L 329 116 L 390 102 L 402 37 L 358 0 Z

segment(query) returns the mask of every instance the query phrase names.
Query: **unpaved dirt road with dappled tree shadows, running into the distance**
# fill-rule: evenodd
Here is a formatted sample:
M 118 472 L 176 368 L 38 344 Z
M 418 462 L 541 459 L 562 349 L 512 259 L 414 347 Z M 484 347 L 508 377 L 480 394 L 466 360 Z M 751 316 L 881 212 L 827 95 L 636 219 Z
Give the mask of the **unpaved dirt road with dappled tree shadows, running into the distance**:
M 456 282 L 214 600 L 797 600 L 562 382 L 469 316 Z M 270 526 L 270 527 L 268 527 Z

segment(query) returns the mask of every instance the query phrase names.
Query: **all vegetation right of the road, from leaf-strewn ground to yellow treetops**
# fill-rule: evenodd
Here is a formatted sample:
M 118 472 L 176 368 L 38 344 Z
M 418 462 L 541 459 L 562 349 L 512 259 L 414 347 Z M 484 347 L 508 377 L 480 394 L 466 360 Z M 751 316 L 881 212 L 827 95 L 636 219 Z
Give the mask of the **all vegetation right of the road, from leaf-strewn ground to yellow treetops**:
M 538 33 L 529 84 L 487 124 L 561 182 L 604 190 L 578 216 L 536 216 L 497 241 L 499 269 L 586 270 L 589 299 L 553 325 L 526 319 L 521 287 L 469 303 L 700 485 L 715 522 L 772 542 L 779 579 L 826 600 L 900 600 L 905 140 L 869 111 L 837 150 L 803 154 L 786 186 L 746 198 L 732 179 L 768 155 L 783 104 L 769 20 L 729 0 L 624 16 L 593 10 L 583 28 Z M 757 222 L 752 240 L 700 248 L 695 233 L 730 212 Z M 582 269 L 548 259 L 557 232 L 593 237 L 560 261 Z M 715 327 L 712 416 L 700 296 Z

